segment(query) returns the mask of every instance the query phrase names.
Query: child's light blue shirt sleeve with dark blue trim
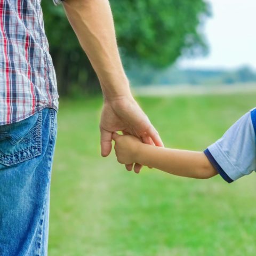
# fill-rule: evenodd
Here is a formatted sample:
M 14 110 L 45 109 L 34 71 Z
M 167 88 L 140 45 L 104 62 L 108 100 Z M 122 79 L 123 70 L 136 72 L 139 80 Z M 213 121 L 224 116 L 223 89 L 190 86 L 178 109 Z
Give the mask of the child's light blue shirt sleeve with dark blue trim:
M 256 170 L 256 108 L 204 150 L 221 177 L 231 183 Z

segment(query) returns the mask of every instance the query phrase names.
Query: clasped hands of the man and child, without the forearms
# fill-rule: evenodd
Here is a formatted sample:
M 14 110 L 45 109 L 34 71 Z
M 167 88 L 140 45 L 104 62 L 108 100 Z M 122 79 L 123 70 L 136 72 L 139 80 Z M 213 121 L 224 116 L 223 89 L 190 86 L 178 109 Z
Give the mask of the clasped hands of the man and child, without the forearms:
M 119 135 L 122 131 L 125 135 Z M 142 166 L 136 163 L 136 152 L 141 142 L 163 147 L 155 127 L 132 96 L 105 99 L 101 119 L 101 155 L 106 157 L 115 140 L 116 156 L 119 163 L 125 164 L 128 171 L 139 173 Z M 126 136 L 131 135 L 131 136 Z

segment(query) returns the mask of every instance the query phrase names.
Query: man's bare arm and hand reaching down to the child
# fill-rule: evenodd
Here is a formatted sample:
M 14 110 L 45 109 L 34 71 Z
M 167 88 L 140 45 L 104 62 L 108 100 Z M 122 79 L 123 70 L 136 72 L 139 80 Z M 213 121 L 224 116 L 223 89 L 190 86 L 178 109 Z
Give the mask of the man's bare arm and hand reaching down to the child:
M 108 0 L 66 0 L 63 6 L 102 88 L 101 155 L 109 155 L 115 131 L 133 134 L 151 145 L 163 146 L 156 129 L 132 97 L 118 53 Z M 126 165 L 127 170 L 132 167 L 132 164 Z M 134 165 L 135 172 L 140 169 L 139 164 Z

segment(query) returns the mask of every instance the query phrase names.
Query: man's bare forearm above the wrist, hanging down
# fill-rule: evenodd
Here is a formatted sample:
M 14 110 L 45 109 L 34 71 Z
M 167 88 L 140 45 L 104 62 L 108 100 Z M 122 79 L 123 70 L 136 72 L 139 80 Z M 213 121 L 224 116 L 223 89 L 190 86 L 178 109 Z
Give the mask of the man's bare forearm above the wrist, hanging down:
M 97 73 L 105 97 L 111 99 L 130 95 L 108 0 L 66 0 L 63 6 L 79 43 Z

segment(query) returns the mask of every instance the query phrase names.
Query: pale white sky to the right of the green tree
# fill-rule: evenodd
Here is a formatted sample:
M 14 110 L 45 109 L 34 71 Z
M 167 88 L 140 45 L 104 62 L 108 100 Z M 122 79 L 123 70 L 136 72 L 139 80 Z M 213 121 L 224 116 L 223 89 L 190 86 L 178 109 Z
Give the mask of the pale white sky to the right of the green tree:
M 212 17 L 204 26 L 207 57 L 180 59 L 183 68 L 238 68 L 256 70 L 256 0 L 209 0 Z

